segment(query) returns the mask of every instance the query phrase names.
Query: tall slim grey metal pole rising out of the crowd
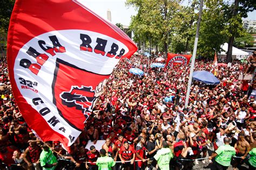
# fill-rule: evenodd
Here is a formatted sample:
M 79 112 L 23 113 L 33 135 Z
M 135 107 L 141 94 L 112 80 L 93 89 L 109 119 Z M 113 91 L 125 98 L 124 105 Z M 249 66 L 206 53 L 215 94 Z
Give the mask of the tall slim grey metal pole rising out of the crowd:
M 190 78 L 189 78 L 188 84 L 187 84 L 185 108 L 187 108 L 188 98 L 190 97 L 190 88 L 191 88 L 192 76 L 193 76 L 193 71 L 194 71 L 194 61 L 196 60 L 197 43 L 198 43 L 198 38 L 199 38 L 199 28 L 200 28 L 201 15 L 202 15 L 202 10 L 203 10 L 203 2 L 204 2 L 203 0 L 200 0 L 199 17 L 198 17 L 198 21 L 197 21 L 197 33 L 196 33 L 196 38 L 194 39 L 194 49 L 193 49 L 191 66 L 190 66 Z

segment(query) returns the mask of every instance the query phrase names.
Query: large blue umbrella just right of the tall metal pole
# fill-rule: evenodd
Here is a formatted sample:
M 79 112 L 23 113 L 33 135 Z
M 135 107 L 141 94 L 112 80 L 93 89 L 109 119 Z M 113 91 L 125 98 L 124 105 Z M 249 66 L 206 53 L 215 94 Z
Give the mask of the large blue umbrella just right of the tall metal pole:
M 206 84 L 219 84 L 220 81 L 210 72 L 197 71 L 193 73 L 193 79 Z

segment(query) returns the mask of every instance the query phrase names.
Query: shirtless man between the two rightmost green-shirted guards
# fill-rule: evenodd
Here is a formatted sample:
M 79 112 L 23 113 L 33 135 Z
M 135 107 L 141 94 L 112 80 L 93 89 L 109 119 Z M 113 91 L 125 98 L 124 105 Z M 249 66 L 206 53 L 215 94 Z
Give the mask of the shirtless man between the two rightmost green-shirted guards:
M 241 157 L 241 159 L 236 158 L 235 163 L 233 165 L 233 169 L 237 168 L 237 165 L 242 164 L 242 161 L 246 158 L 247 154 L 250 152 L 251 147 L 248 141 L 245 139 L 245 133 L 242 131 L 238 135 L 237 143 L 234 145 L 235 150 L 238 151 L 235 154 L 237 157 Z

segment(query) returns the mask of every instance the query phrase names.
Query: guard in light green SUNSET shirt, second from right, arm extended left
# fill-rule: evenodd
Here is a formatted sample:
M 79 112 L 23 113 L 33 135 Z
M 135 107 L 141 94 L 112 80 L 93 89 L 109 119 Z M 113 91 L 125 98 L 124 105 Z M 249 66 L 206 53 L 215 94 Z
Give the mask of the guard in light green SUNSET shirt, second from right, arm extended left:
M 228 166 L 230 166 L 232 157 L 235 155 L 235 148 L 230 146 L 230 139 L 225 137 L 224 144 L 225 145 L 220 146 L 218 150 L 212 153 L 211 157 L 209 157 L 210 160 L 216 157 L 215 158 L 216 166 L 217 166 L 217 169 L 219 170 L 227 169 Z

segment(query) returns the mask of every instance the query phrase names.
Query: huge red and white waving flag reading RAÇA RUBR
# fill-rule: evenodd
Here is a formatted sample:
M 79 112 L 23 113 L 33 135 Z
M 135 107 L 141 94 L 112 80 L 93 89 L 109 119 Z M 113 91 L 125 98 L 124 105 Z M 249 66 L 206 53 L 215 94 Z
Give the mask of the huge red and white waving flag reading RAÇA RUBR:
M 80 2 L 17 0 L 8 32 L 19 110 L 40 138 L 68 150 L 113 68 L 137 51 L 123 31 Z

